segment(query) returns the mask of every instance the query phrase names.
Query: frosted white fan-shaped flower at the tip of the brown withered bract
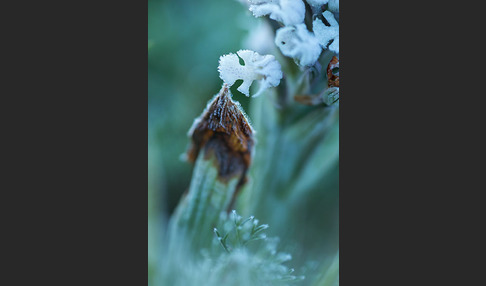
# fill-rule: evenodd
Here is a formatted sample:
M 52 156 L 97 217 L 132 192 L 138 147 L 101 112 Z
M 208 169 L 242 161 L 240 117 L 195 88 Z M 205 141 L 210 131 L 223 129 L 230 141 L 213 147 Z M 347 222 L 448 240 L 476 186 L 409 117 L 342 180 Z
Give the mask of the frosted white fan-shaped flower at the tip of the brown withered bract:
M 237 90 L 246 96 L 250 96 L 250 86 L 254 80 L 260 80 L 260 89 L 253 97 L 259 96 L 269 87 L 277 86 L 282 79 L 280 64 L 272 55 L 260 55 L 250 50 L 240 50 L 238 55 L 230 53 L 219 58 L 219 77 L 229 86 L 236 80 L 242 79 L 243 83 Z M 243 60 L 240 64 L 238 56 Z

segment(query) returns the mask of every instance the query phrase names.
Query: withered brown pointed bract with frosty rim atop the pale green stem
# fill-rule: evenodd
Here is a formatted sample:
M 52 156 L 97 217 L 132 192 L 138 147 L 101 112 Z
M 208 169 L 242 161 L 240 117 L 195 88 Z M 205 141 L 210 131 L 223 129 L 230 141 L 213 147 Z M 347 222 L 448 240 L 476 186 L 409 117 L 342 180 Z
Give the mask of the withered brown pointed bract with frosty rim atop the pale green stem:
M 241 176 L 244 182 L 254 146 L 253 129 L 240 104 L 231 98 L 226 84 L 194 121 L 187 159 L 195 162 L 201 150 L 205 158 L 215 155 L 221 179 Z

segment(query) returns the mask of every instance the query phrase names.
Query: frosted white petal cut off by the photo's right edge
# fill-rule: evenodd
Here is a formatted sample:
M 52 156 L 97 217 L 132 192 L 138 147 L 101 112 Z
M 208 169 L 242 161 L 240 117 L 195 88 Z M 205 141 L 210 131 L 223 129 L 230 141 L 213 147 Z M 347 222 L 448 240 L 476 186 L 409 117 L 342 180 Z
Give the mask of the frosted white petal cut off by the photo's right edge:
M 324 49 L 331 40 L 334 40 L 329 46 L 329 50 L 339 54 L 339 24 L 329 11 L 322 13 L 322 16 L 331 26 L 326 26 L 321 20 L 315 19 L 312 23 L 314 34 Z

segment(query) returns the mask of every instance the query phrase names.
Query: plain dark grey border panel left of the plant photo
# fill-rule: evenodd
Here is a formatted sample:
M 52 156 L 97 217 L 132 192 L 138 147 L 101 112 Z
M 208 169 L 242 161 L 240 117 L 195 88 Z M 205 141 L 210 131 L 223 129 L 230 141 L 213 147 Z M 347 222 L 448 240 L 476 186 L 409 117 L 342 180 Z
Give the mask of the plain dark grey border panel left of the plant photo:
M 8 5 L 7 275 L 146 285 L 147 2 Z

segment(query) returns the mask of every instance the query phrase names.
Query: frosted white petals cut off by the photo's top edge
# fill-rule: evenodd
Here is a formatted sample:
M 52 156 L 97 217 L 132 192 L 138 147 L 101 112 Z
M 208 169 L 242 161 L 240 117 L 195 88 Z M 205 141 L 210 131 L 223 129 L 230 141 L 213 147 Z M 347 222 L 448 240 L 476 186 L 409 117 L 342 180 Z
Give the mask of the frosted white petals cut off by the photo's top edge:
M 302 0 L 248 0 L 253 16 L 270 14 L 270 19 L 286 26 L 304 22 L 305 5 Z

